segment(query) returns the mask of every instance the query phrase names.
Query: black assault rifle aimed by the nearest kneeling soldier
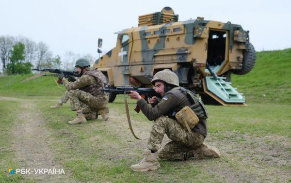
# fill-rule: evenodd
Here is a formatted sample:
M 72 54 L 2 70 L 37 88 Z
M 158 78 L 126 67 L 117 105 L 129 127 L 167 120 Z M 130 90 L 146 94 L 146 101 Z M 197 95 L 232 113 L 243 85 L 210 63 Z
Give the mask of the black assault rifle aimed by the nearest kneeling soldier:
M 103 92 L 113 92 L 113 93 L 124 93 L 128 94 L 130 91 L 138 92 L 143 99 L 151 98 L 153 96 L 157 96 L 158 98 L 161 98 L 161 95 L 157 93 L 154 89 L 151 88 L 140 88 L 136 86 L 132 87 L 116 87 L 115 90 L 112 89 L 101 89 Z M 140 111 L 140 108 L 138 106 L 135 107 L 134 109 L 136 112 Z

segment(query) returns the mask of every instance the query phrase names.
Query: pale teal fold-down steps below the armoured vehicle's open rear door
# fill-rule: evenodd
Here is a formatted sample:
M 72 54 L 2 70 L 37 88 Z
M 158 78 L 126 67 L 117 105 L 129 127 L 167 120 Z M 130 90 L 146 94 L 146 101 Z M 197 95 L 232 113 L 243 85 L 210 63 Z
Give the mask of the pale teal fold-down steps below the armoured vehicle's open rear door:
M 245 105 L 243 94 L 237 92 L 237 88 L 233 88 L 231 83 L 226 82 L 224 79 L 226 79 L 226 77 L 218 77 L 218 80 L 228 93 L 229 97 L 213 76 L 205 77 L 203 81 L 204 92 L 206 92 L 208 95 L 224 106 Z

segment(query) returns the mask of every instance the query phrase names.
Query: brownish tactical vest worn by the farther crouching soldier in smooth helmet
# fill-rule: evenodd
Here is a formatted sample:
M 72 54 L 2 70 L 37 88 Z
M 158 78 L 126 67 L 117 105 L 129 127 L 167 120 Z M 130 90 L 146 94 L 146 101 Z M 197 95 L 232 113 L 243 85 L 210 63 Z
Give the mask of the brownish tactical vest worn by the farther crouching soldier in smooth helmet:
M 87 70 L 84 73 L 84 75 L 93 76 L 96 80 L 96 83 L 85 86 L 84 88 L 81 88 L 80 90 L 82 90 L 84 92 L 89 92 L 93 96 L 106 96 L 106 95 L 108 95 L 107 92 L 101 91 L 102 88 L 105 88 L 105 83 L 107 83 L 106 78 L 101 71 L 99 71 L 98 69 Z

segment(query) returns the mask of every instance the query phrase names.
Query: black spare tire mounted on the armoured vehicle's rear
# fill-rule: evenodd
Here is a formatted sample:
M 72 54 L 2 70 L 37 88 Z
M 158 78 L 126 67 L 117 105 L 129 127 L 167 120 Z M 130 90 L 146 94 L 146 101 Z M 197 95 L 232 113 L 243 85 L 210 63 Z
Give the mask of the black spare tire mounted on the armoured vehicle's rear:
M 251 43 L 249 43 L 248 48 L 249 49 L 243 53 L 242 69 L 234 70 L 233 74 L 245 75 L 253 69 L 256 61 L 256 50 Z

